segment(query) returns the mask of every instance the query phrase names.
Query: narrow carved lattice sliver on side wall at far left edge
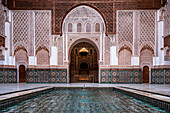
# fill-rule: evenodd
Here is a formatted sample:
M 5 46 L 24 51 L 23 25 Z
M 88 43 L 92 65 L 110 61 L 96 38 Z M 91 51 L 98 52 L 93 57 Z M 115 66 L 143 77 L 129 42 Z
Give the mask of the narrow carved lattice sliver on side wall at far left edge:
M 0 35 L 5 35 L 5 16 L 2 4 L 0 4 Z

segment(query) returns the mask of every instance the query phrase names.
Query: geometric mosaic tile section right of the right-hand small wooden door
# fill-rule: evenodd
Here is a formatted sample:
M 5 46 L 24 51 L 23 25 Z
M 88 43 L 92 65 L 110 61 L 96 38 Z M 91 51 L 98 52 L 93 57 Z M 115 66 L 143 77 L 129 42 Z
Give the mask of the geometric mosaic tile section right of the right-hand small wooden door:
M 152 84 L 170 84 L 170 69 L 152 69 Z

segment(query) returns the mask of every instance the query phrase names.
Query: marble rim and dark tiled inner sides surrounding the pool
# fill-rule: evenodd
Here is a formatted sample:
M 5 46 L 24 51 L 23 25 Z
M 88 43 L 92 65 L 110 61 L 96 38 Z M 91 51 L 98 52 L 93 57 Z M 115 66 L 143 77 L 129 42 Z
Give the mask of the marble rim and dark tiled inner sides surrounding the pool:
M 10 94 L 12 96 L 0 98 L 0 111 L 7 109 L 8 107 L 14 106 L 22 101 L 31 99 L 38 95 L 45 94 L 57 89 L 112 89 L 113 91 L 123 93 L 125 95 L 141 100 L 155 107 L 158 107 L 162 110 L 166 110 L 167 112 L 170 112 L 170 102 L 168 100 L 160 100 L 150 95 L 146 95 L 144 93 L 138 93 L 135 91 L 133 92 L 121 87 L 46 87 L 46 88 L 41 88 L 33 91 L 27 91 L 25 93 L 18 92 L 15 95 Z

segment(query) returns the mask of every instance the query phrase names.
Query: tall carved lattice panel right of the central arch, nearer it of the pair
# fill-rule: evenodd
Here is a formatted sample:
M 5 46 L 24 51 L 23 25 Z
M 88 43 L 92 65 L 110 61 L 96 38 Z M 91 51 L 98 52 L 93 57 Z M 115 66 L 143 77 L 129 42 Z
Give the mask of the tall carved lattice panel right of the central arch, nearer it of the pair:
M 133 12 L 118 12 L 118 41 L 133 44 Z

